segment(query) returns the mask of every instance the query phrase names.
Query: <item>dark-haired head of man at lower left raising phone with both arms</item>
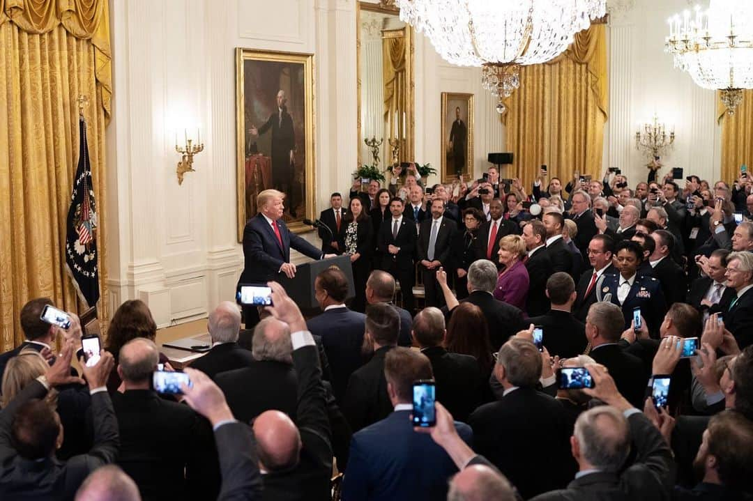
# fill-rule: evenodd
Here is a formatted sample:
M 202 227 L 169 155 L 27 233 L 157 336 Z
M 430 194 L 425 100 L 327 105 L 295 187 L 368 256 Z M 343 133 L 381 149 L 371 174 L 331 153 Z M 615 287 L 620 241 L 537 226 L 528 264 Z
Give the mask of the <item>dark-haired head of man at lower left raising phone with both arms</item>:
M 31 399 L 19 405 L 11 424 L 11 445 L 27 460 L 50 457 L 58 445 L 60 421 L 49 402 Z

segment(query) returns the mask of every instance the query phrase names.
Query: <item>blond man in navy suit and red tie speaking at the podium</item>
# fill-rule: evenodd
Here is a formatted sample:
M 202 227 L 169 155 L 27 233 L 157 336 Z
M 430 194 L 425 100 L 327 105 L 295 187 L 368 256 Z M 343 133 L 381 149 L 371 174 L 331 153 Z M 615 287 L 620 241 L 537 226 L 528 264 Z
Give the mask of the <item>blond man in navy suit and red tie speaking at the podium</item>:
M 292 233 L 282 221 L 282 199 L 285 193 L 277 190 L 264 190 L 256 197 L 259 214 L 248 220 L 243 229 L 244 268 L 238 281 L 240 284 L 264 284 L 278 280 L 281 273 L 288 278 L 295 276 L 295 265 L 290 262 L 291 247 L 310 257 L 321 260 L 335 254 L 322 252 L 300 236 Z M 256 306 L 243 305 L 245 328 L 252 329 L 259 323 Z

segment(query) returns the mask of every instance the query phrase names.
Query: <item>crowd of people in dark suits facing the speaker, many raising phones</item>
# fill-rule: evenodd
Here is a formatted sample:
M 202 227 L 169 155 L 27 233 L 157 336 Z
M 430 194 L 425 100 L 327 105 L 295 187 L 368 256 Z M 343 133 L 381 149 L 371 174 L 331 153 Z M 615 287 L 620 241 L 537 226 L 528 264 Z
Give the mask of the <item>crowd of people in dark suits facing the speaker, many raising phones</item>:
M 530 193 L 493 167 L 428 190 L 417 174 L 322 211 L 351 302 L 330 268 L 308 319 L 276 282 L 252 329 L 221 303 L 180 395 L 151 387 L 172 368 L 144 303 L 78 370 L 78 317 L 27 303 L 26 342 L 0 355 L 0 497 L 753 499 L 745 172 L 633 189 L 542 169 Z M 427 380 L 436 424 L 414 427 Z

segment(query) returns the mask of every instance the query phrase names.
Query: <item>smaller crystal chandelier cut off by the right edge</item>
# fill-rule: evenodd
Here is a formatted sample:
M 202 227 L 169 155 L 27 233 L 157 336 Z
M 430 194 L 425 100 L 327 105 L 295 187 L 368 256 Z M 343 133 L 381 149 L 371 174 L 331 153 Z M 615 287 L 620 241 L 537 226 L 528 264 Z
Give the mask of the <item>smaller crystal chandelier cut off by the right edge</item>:
M 695 8 L 669 21 L 664 51 L 675 68 L 687 71 L 704 89 L 721 90 L 728 114 L 742 102 L 742 90 L 753 89 L 753 2 L 711 0 L 709 10 Z

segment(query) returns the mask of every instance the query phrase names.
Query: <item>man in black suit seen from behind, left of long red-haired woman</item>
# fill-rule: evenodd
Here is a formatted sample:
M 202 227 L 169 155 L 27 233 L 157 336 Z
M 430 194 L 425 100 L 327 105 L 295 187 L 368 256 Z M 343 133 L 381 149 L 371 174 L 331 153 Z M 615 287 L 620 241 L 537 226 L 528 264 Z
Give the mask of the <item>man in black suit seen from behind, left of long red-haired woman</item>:
M 424 308 L 416 314 L 412 334 L 421 353 L 431 362 L 437 402 L 465 422 L 481 402 L 481 385 L 487 383 L 482 381 L 486 375 L 481 375 L 477 360 L 470 355 L 448 353 L 442 347 L 447 331 L 444 315 L 437 308 Z

